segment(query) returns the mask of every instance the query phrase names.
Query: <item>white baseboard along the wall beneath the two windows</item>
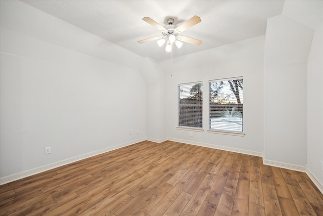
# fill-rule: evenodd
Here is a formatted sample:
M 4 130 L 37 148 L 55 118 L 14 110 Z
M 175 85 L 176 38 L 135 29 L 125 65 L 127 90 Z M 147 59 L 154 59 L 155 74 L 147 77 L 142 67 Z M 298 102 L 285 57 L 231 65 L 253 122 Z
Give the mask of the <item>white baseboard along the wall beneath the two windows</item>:
M 194 142 L 194 141 L 189 141 L 189 140 L 181 140 L 181 139 L 176 139 L 176 138 L 167 138 L 167 140 L 179 142 L 179 143 L 190 144 L 190 145 L 195 145 L 195 146 L 202 146 L 202 147 L 207 147 L 207 148 L 212 148 L 212 149 L 220 149 L 220 150 L 225 150 L 225 151 L 237 152 L 237 153 L 241 153 L 241 154 L 248 154 L 248 155 L 263 157 L 262 152 L 256 152 L 256 151 L 251 151 L 251 150 L 238 149 L 238 148 L 227 147 L 227 146 L 219 146 L 219 145 L 214 145 L 214 144 L 209 144 L 209 143 L 200 143 L 200 142 Z

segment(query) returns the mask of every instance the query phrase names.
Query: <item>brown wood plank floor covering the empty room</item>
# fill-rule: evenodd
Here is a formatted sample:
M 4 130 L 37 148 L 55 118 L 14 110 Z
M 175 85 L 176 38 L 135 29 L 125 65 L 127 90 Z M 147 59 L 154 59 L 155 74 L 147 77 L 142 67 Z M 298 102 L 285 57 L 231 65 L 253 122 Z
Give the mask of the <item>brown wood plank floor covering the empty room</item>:
M 0 186 L 0 215 L 323 215 L 303 172 L 145 141 Z

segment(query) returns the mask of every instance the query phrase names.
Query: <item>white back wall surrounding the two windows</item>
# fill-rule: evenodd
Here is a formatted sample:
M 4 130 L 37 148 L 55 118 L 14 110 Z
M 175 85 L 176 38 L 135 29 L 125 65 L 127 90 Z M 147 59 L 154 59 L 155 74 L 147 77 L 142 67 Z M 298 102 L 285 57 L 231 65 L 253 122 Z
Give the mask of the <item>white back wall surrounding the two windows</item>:
M 189 45 L 187 45 L 189 46 Z M 236 42 L 162 62 L 167 71 L 168 139 L 260 154 L 263 151 L 263 49 L 264 36 Z M 171 76 L 173 74 L 173 76 Z M 243 76 L 244 137 L 211 134 L 208 129 L 208 81 Z M 203 82 L 203 132 L 177 129 L 177 85 Z

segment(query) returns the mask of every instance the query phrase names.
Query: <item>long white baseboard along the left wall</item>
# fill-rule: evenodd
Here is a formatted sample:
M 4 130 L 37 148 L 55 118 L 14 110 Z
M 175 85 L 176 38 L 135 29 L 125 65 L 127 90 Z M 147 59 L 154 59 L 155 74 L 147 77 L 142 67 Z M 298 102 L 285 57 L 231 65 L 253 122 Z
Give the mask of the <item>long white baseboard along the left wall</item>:
M 92 156 L 95 156 L 95 155 L 98 155 L 98 154 L 102 154 L 102 153 L 113 151 L 113 150 L 116 150 L 116 149 L 119 149 L 119 148 L 122 148 L 122 147 L 130 146 L 130 145 L 133 145 L 135 143 L 139 143 L 139 142 L 142 142 L 142 141 L 145 141 L 145 140 L 146 140 L 145 138 L 134 140 L 134 141 L 131 141 L 131 142 L 119 144 L 119 145 L 112 146 L 112 147 L 109 147 L 109 148 L 105 148 L 105 149 L 93 151 L 93 152 L 90 152 L 90 153 L 87 153 L 87 154 L 72 157 L 72 158 L 69 158 L 69 159 L 66 159 L 66 160 L 61 160 L 61 161 L 51 163 L 51 164 L 48 164 L 48 165 L 44 165 L 44 166 L 36 167 L 36 168 L 33 168 L 33 169 L 29 169 L 29 170 L 26 170 L 26 171 L 23 171 L 23 172 L 20 172 L 18 174 L 14 174 L 14 175 L 11 175 L 11 176 L 3 177 L 3 178 L 0 179 L 0 185 L 4 185 L 4 184 L 7 184 L 9 182 L 13 182 L 13 181 L 23 179 L 23 178 L 26 178 L 26 177 L 29 177 L 29 176 L 32 176 L 32 175 L 35 175 L 35 174 L 39 174 L 40 172 L 47 171 L 47 170 L 53 169 L 53 168 L 57 168 L 59 166 L 63 166 L 63 165 L 66 165 L 66 164 L 69 164 L 69 163 L 72 163 L 72 162 L 75 162 L 75 161 L 78 161 L 78 160 L 83 160 L 85 158 L 89 158 L 89 157 L 92 157 Z

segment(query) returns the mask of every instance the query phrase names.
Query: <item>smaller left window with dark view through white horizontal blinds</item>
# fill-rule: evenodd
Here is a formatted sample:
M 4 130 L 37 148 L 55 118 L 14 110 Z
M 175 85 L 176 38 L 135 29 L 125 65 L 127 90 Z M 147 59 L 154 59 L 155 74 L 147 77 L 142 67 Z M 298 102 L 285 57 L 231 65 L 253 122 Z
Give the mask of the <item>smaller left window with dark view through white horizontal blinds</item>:
M 202 82 L 178 85 L 178 126 L 202 128 Z

